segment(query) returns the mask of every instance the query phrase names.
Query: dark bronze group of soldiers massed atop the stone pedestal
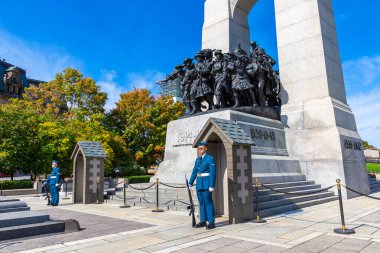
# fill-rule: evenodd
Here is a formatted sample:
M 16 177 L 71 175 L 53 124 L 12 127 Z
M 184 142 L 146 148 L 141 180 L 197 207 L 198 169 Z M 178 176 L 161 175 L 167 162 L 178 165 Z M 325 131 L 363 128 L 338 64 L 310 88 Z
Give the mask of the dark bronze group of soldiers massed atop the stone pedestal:
M 181 87 L 186 114 L 201 112 L 204 101 L 208 110 L 258 105 L 280 110 L 281 81 L 273 69 L 277 62 L 255 41 L 249 54 L 239 45 L 224 54 L 203 49 L 194 58 L 195 64 L 193 58 L 187 58 L 165 80 L 157 82 L 162 88 Z

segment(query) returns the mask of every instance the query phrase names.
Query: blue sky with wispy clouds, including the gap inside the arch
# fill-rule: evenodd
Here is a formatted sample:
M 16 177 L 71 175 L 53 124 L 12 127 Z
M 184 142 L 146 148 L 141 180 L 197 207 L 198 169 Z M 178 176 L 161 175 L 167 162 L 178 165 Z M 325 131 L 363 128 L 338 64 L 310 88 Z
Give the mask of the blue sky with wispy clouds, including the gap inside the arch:
M 0 57 L 49 80 L 66 66 L 93 77 L 109 104 L 201 48 L 203 0 L 2 1 Z M 333 0 L 346 91 L 359 133 L 380 147 L 380 1 Z M 9 11 L 6 11 L 9 10 Z M 277 58 L 274 4 L 250 14 L 252 39 Z

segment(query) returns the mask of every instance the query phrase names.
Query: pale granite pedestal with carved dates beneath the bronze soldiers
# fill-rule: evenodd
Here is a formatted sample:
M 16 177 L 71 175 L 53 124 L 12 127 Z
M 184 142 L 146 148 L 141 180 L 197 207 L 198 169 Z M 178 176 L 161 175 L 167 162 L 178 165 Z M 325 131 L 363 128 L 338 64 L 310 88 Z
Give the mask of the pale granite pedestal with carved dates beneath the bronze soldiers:
M 258 114 L 271 115 L 271 118 Z M 273 108 L 229 108 L 170 122 L 164 161 L 156 176 L 165 183 L 184 184 L 185 175 L 190 177 L 197 156 L 196 149 L 192 148 L 195 138 L 209 118 L 219 118 L 236 122 L 256 143 L 251 149 L 254 176 L 265 183 L 305 178 L 298 160 L 288 157 L 284 127 L 276 115 Z

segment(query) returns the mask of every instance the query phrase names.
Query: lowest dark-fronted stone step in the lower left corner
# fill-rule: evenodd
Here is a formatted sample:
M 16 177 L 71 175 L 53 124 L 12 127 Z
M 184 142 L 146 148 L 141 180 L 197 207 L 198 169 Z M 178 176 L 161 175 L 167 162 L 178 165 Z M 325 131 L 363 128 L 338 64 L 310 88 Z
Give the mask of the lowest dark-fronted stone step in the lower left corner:
M 64 221 L 45 221 L 42 223 L 14 225 L 0 228 L 0 241 L 28 236 L 36 236 L 65 231 Z

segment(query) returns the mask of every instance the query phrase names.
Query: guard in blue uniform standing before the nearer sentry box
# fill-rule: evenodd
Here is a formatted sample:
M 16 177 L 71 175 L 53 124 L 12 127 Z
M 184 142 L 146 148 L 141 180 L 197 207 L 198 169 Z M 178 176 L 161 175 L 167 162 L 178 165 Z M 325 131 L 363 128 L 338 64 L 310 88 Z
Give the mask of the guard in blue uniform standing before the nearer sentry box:
M 215 159 L 207 154 L 207 142 L 200 142 L 197 146 L 198 157 L 195 160 L 193 173 L 189 181 L 189 186 L 197 179 L 197 197 L 199 201 L 199 212 L 201 221 L 195 225 L 196 228 L 215 228 L 215 207 L 212 201 L 212 192 L 215 188 Z M 206 224 L 206 221 L 208 224 Z

